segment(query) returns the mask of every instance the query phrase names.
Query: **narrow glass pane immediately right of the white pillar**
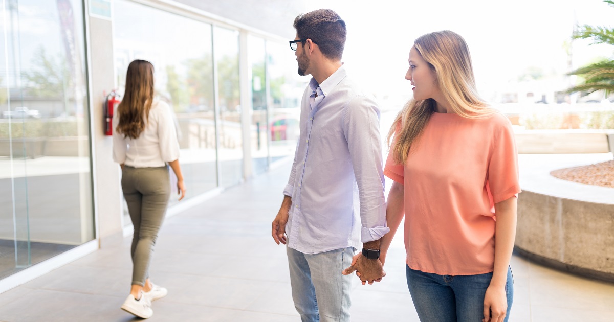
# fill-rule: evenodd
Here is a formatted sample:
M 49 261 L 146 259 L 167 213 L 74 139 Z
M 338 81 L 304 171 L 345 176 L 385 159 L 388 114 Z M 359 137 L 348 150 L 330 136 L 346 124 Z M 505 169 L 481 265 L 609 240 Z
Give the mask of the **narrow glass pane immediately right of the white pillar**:
M 254 174 L 260 174 L 268 169 L 265 40 L 249 37 L 247 46 L 249 47 L 252 85 L 252 123 L 250 125 L 252 165 Z

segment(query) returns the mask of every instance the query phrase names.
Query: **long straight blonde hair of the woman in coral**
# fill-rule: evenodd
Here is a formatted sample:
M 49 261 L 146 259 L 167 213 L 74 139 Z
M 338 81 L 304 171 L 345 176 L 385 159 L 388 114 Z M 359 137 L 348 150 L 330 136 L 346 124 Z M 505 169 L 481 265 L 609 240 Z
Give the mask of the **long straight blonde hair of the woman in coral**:
M 496 113 L 478 95 L 469 48 L 461 35 L 449 30 L 436 31 L 418 37 L 414 47 L 435 72 L 436 86 L 454 113 L 465 118 L 488 118 Z M 434 99 L 410 99 L 398 113 L 387 136 L 390 146 L 400 121 L 401 131 L 391 147 L 395 163 L 405 164 L 411 145 L 429 123 L 435 106 Z

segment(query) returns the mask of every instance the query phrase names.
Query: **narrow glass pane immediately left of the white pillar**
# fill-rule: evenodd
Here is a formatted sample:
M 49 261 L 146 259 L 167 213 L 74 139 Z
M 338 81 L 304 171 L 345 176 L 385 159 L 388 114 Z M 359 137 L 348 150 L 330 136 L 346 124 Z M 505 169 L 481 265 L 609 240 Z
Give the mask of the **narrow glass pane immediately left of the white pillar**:
M 239 32 L 214 28 L 219 98 L 220 186 L 243 178 L 243 131 L 239 106 Z

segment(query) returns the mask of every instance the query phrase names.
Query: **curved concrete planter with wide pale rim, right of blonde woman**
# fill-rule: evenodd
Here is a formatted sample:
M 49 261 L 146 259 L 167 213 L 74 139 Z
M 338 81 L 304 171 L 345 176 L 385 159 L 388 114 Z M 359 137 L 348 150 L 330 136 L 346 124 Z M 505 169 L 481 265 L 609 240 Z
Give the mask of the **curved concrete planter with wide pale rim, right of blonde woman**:
M 614 188 L 550 172 L 612 160 L 612 154 L 519 155 L 516 251 L 534 261 L 614 282 Z

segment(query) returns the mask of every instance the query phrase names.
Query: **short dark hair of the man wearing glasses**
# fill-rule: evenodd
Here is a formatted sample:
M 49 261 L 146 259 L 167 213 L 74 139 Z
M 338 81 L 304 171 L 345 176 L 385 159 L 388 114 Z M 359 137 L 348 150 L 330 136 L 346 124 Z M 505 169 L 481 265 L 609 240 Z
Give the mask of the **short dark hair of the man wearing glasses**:
M 322 55 L 341 59 L 347 36 L 345 21 L 330 9 L 319 9 L 298 15 L 294 20 L 298 39 L 316 42 Z

